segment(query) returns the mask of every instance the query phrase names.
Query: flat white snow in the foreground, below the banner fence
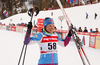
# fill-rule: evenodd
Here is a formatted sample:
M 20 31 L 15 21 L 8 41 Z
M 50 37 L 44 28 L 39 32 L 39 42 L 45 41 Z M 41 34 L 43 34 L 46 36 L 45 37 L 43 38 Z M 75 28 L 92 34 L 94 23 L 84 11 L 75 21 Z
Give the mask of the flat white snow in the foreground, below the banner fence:
M 23 46 L 24 34 L 0 30 L 0 64 L 17 65 Z M 91 65 L 100 65 L 100 49 L 84 47 Z M 82 65 L 76 46 L 70 42 L 67 47 L 58 48 L 59 65 Z M 28 45 L 25 65 L 37 65 L 39 59 L 37 44 Z M 88 64 L 86 64 L 88 65 Z

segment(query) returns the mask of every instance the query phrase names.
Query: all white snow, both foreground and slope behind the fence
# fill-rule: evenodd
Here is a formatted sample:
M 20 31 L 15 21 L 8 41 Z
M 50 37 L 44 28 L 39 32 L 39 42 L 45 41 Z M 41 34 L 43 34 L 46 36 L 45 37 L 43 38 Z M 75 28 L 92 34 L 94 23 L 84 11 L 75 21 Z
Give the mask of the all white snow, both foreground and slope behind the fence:
M 85 26 L 90 28 L 99 28 L 100 30 L 100 3 L 87 5 L 87 6 L 80 6 L 80 7 L 73 7 L 67 8 L 66 12 L 70 21 L 76 27 Z M 51 12 L 53 12 L 53 16 L 51 16 Z M 89 19 L 85 19 L 85 13 L 89 14 Z M 94 20 L 94 13 L 98 14 L 96 20 Z M 39 15 L 35 17 L 37 21 L 38 18 L 45 18 L 45 17 L 52 17 L 54 18 L 55 25 L 58 29 L 60 29 L 61 21 L 58 19 L 59 16 L 62 16 L 61 10 L 50 10 L 50 11 L 40 11 Z M 22 18 L 22 20 L 20 20 Z M 10 21 L 10 19 L 13 19 Z M 30 17 L 27 13 L 17 14 L 6 18 L 5 20 L 0 20 L 0 22 L 9 24 L 9 23 L 21 23 L 21 22 L 29 22 Z M 65 20 L 62 22 L 63 29 L 67 30 L 67 24 Z M 1 65 L 17 65 L 19 56 L 21 53 L 21 49 L 23 46 L 25 34 L 0 30 L 0 64 Z M 88 40 L 86 40 L 88 41 Z M 91 65 L 100 65 L 100 49 L 90 48 L 88 46 L 84 46 L 84 50 L 86 55 L 91 63 Z M 27 54 L 25 65 L 37 65 L 38 59 L 40 57 L 40 51 L 38 44 L 28 45 Z M 67 47 L 58 46 L 58 59 L 59 65 L 82 65 L 82 61 L 78 54 L 77 48 L 74 42 L 70 42 Z M 21 61 L 22 62 L 22 61 Z M 86 63 L 86 65 L 88 65 Z

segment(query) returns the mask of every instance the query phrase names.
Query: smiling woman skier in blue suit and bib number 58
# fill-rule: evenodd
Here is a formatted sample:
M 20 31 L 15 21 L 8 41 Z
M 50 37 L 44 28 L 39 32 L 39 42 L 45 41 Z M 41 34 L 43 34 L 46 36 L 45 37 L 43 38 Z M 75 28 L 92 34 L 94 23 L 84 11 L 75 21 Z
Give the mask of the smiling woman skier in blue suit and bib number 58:
M 32 23 L 28 24 L 28 29 L 32 28 Z M 54 32 L 55 26 L 52 18 L 45 18 L 44 28 L 41 33 L 37 33 L 34 37 L 30 37 L 30 43 L 38 43 L 40 47 L 40 59 L 38 65 L 58 65 L 58 44 L 66 47 L 71 39 L 69 32 L 65 40 Z

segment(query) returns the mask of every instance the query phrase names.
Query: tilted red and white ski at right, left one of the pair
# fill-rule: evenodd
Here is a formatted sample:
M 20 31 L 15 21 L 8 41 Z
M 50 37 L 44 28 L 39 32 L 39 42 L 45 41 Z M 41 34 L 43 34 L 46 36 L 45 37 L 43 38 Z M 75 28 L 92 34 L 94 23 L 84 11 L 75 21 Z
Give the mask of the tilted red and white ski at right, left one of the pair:
M 62 13 L 63 13 L 65 19 L 66 19 L 66 22 L 67 22 L 67 24 L 68 24 L 68 27 L 70 28 L 71 22 L 70 22 L 70 20 L 69 20 L 67 14 L 66 14 L 64 8 L 62 7 L 61 2 L 60 2 L 59 0 L 56 0 L 56 1 L 57 1 L 58 5 L 59 5 L 59 7 L 60 7 L 60 9 L 61 9 L 61 11 L 62 11 Z M 68 19 L 68 21 L 67 21 L 67 19 Z M 84 58 L 82 57 L 82 52 L 83 52 L 83 51 L 81 51 L 81 46 L 78 46 L 81 42 L 79 41 L 79 38 L 78 38 L 78 36 L 77 36 L 77 34 L 76 34 L 76 31 L 74 31 L 74 33 L 73 33 L 73 32 L 71 32 L 71 33 L 72 33 L 73 40 L 74 40 L 74 42 L 75 42 L 75 44 L 76 44 L 76 47 L 77 47 L 77 49 L 78 49 L 79 55 L 80 55 L 80 57 L 81 57 L 81 60 L 82 60 L 82 62 L 83 62 L 83 65 L 85 65 L 86 63 L 85 63 L 85 61 L 84 61 Z M 78 41 L 77 41 L 77 40 L 78 40 Z M 85 54 L 84 54 L 84 55 L 85 55 Z

